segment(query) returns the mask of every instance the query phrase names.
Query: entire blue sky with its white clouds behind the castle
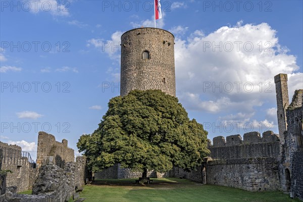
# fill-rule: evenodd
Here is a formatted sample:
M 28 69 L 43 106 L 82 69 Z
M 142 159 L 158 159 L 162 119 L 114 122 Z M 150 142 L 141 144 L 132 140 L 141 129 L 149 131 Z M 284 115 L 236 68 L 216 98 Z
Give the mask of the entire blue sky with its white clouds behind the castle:
M 153 1 L 0 2 L 1 141 L 35 158 L 44 130 L 77 150 L 120 94 L 121 34 L 154 26 Z M 277 133 L 273 77 L 288 74 L 290 99 L 303 88 L 302 1 L 161 2 L 189 117 L 211 140 Z

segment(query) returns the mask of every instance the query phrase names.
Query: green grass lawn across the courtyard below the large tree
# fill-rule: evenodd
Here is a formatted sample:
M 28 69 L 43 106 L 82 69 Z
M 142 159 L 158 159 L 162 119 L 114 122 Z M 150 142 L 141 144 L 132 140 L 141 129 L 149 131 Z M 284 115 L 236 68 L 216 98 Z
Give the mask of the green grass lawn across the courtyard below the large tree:
M 232 201 L 232 202 L 294 202 L 282 192 L 249 192 L 241 189 L 215 185 L 203 185 L 186 179 L 162 178 L 154 179 L 150 185 L 135 184 L 135 179 L 96 180 L 85 185 L 80 197 L 87 202 L 99 201 Z M 72 201 L 72 200 L 70 200 Z

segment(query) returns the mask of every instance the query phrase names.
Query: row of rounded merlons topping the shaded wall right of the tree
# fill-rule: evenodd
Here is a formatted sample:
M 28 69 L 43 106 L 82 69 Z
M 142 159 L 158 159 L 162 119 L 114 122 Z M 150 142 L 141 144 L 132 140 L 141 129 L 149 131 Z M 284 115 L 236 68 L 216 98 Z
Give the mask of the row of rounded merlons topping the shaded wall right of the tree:
M 274 134 L 273 131 L 266 131 L 262 134 L 259 132 L 248 132 L 243 135 L 243 140 L 241 135 L 230 135 L 225 138 L 223 136 L 218 136 L 213 138 L 214 147 L 221 146 L 233 146 L 241 144 L 257 144 L 257 143 L 269 143 L 279 141 L 279 136 Z

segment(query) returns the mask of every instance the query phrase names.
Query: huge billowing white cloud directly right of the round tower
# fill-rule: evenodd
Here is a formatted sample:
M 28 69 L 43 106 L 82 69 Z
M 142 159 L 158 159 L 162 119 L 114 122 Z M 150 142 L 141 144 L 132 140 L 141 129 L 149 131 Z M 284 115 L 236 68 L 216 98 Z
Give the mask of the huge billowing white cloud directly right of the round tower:
M 279 73 L 288 74 L 289 86 L 301 88 L 303 76 L 295 73 L 299 69 L 296 57 L 278 43 L 276 31 L 267 23 L 241 23 L 208 35 L 196 30 L 187 39 L 176 37 L 177 96 L 187 108 L 209 113 L 254 112 L 268 100 L 275 103 L 274 76 Z M 254 48 L 250 50 L 249 44 Z

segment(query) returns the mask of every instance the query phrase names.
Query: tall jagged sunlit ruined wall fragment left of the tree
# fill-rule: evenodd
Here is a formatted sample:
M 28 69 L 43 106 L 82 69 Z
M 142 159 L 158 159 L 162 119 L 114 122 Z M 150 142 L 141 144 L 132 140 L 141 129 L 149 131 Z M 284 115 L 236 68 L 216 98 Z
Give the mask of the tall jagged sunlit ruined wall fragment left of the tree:
M 39 132 L 37 164 L 43 165 L 45 157 L 48 156 L 54 157 L 55 163 L 59 166 L 62 165 L 61 167 L 64 166 L 64 163 L 75 161 L 74 149 L 68 148 L 66 139 L 58 142 L 54 135 Z

